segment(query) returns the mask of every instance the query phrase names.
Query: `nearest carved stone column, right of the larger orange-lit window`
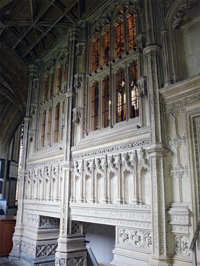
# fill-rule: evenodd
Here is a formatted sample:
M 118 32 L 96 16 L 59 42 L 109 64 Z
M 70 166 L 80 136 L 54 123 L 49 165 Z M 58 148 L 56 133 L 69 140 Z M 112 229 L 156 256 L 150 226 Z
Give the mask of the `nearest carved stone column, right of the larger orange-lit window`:
M 151 226 L 152 226 L 152 257 L 150 265 L 172 265 L 169 255 L 169 239 L 167 225 L 166 196 L 166 158 L 168 149 L 162 139 L 162 112 L 160 111 L 159 88 L 159 52 L 161 48 L 156 42 L 153 1 L 145 0 L 146 19 L 146 55 L 147 81 L 150 113 L 150 174 L 152 180 Z

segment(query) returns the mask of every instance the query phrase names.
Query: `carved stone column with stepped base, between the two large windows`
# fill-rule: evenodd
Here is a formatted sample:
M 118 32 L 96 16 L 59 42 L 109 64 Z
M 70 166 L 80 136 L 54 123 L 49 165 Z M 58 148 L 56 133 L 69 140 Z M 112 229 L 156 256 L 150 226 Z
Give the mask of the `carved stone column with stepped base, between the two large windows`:
M 65 110 L 65 132 L 63 138 L 64 158 L 62 167 L 61 188 L 61 221 L 58 248 L 55 254 L 55 266 L 60 265 L 86 265 L 86 251 L 84 246 L 84 235 L 80 231 L 71 230 L 69 198 L 71 193 L 71 168 L 73 167 L 70 148 L 73 143 L 73 108 L 75 107 L 75 44 L 78 40 L 79 28 L 74 26 L 69 30 L 69 68 Z M 82 228 L 82 225 L 81 227 Z

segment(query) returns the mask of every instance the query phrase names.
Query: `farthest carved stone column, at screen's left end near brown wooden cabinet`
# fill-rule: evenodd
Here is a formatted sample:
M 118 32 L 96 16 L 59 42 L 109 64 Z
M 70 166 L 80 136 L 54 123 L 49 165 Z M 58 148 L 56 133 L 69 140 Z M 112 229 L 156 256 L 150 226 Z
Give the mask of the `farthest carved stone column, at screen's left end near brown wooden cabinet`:
M 30 129 L 30 123 L 32 120 L 31 116 L 31 95 L 33 90 L 33 80 L 37 73 L 37 64 L 31 64 L 30 68 L 30 81 L 29 81 L 29 92 L 26 107 L 26 116 L 24 118 L 24 128 L 23 128 L 23 148 L 22 148 L 22 163 L 21 170 L 19 173 L 19 194 L 18 194 L 18 211 L 17 211 L 17 221 L 15 226 L 15 232 L 13 236 L 13 249 L 10 253 L 11 257 L 20 257 L 21 245 L 22 245 L 22 235 L 24 227 L 24 211 L 23 211 L 23 198 L 25 196 L 26 189 L 26 158 L 28 154 L 28 131 Z

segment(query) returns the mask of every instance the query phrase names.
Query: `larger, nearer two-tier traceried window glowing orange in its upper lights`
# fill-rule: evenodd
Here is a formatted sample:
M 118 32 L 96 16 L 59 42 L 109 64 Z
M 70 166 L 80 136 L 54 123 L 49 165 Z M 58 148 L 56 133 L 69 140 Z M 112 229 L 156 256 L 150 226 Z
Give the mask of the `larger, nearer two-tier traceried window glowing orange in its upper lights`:
M 136 21 L 131 5 L 126 2 L 113 10 L 112 24 L 101 19 L 94 25 L 89 80 L 95 75 L 98 81 L 90 85 L 89 131 L 139 116 Z

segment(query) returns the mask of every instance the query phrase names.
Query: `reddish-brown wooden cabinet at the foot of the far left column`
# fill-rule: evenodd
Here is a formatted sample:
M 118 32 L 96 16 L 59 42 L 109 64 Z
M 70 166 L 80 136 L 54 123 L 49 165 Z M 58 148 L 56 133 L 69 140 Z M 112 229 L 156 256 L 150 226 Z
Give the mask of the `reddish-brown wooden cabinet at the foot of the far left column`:
M 0 256 L 9 255 L 13 248 L 16 216 L 0 215 Z

